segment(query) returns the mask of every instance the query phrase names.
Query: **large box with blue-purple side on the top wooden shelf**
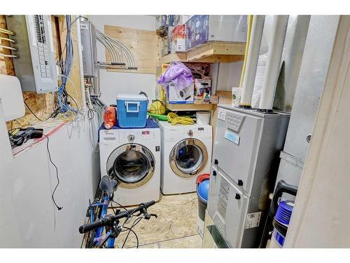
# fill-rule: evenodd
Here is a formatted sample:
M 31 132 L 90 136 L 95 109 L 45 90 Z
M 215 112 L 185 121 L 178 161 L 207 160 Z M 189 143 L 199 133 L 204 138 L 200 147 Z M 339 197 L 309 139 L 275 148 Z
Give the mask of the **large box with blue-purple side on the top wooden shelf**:
M 186 48 L 207 41 L 246 42 L 247 15 L 193 15 L 186 22 Z

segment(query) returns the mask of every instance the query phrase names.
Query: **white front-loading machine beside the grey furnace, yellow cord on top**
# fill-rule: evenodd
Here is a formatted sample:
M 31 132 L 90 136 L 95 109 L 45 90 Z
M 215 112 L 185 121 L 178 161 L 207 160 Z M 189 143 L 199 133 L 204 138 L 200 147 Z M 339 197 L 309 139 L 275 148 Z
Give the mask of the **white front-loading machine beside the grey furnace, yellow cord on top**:
M 196 191 L 198 175 L 210 173 L 212 130 L 210 125 L 176 125 L 160 121 L 163 194 Z

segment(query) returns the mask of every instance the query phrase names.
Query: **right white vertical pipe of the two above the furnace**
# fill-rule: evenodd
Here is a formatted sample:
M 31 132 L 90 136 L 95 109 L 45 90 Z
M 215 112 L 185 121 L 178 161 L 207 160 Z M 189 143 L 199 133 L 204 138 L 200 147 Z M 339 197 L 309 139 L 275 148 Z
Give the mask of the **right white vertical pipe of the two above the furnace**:
M 270 111 L 274 102 L 276 83 L 281 67 L 281 58 L 286 38 L 289 15 L 275 15 L 272 24 L 272 36 L 269 42 L 264 82 L 262 83 L 259 109 Z

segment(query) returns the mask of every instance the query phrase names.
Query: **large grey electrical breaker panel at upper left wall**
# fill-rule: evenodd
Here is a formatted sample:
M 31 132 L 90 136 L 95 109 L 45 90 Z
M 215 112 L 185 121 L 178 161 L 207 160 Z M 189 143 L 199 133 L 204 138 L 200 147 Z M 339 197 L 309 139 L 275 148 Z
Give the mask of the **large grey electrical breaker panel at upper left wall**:
M 13 64 L 22 90 L 57 91 L 51 15 L 8 15 L 6 23 L 8 29 L 15 32 L 18 58 L 13 59 Z

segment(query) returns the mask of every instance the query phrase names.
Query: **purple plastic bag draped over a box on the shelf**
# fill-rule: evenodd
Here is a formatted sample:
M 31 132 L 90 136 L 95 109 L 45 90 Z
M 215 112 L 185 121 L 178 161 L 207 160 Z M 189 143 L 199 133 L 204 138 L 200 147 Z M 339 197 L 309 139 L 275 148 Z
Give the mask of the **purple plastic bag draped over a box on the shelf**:
M 182 90 L 193 83 L 192 72 L 183 63 L 172 62 L 167 71 L 157 80 L 157 83 L 162 86 L 167 86 L 169 82 L 174 83 L 176 90 Z

